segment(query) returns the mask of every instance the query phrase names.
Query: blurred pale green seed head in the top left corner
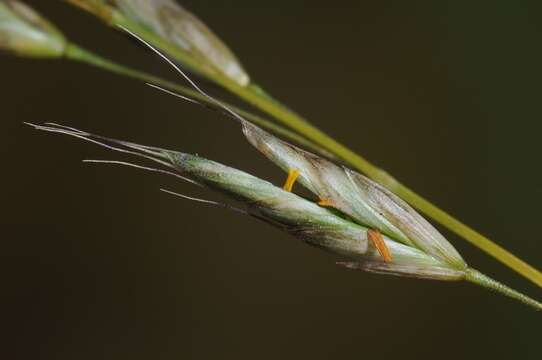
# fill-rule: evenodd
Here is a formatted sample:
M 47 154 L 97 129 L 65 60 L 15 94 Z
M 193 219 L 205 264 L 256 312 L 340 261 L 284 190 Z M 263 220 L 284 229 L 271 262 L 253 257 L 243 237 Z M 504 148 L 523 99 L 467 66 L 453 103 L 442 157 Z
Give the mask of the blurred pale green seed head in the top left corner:
M 64 35 L 40 14 L 16 0 L 0 1 L 0 49 L 27 57 L 61 57 Z

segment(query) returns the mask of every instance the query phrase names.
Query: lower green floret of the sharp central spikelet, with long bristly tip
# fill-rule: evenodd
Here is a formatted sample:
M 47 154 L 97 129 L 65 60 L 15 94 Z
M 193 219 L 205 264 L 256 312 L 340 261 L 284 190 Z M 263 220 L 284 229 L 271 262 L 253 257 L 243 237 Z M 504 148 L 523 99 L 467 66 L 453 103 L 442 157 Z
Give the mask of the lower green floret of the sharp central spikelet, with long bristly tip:
M 56 125 L 34 126 L 39 130 L 72 135 L 154 160 L 191 181 L 242 202 L 251 216 L 310 245 L 344 256 L 346 261 L 340 265 L 439 280 L 460 280 L 465 276 L 463 269 L 454 268 L 421 249 L 382 235 L 383 246 L 389 252 L 389 258 L 393 259 L 390 261 L 369 240 L 372 227 L 352 221 L 335 209 L 322 207 L 246 172 L 196 155 L 107 139 Z

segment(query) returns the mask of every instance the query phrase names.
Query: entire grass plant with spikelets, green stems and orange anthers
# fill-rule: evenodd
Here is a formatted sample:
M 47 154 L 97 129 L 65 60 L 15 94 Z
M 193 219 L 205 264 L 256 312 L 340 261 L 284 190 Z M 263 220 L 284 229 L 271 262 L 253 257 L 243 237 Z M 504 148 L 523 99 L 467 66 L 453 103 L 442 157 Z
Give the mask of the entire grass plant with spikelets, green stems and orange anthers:
M 0 48 L 19 56 L 66 58 L 90 64 L 224 113 L 241 123 L 251 144 L 290 176 L 295 174 L 289 178 L 290 185 L 298 177 L 320 202 L 310 202 L 289 189 L 188 154 L 111 140 L 60 126 L 36 125 L 36 128 L 138 154 L 167 168 L 151 169 L 153 171 L 176 173 L 189 181 L 226 192 L 248 207 L 242 212 L 280 226 L 311 245 L 344 255 L 346 260 L 340 265 L 345 267 L 420 278 L 467 280 L 542 309 L 539 302 L 470 268 L 414 208 L 542 287 L 542 274 L 537 269 L 430 203 L 271 97 L 244 70 L 220 38 L 175 1 L 66 2 L 96 16 L 113 29 L 132 34 L 171 65 L 182 64 L 272 120 L 214 99 L 177 67 L 192 88 L 117 64 L 84 49 L 20 1 L 0 1 Z M 312 153 L 286 143 L 260 127 Z

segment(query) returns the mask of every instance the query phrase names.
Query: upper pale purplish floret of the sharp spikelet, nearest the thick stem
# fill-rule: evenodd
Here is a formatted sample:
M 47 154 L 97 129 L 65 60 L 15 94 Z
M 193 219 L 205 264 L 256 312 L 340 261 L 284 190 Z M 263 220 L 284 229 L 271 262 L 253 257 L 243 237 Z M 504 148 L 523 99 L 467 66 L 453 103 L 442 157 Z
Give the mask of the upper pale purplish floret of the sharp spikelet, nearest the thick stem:
M 283 170 L 299 171 L 308 190 L 357 223 L 418 248 L 454 268 L 465 269 L 453 246 L 403 200 L 367 177 L 284 142 L 248 122 L 243 132 L 258 150 Z

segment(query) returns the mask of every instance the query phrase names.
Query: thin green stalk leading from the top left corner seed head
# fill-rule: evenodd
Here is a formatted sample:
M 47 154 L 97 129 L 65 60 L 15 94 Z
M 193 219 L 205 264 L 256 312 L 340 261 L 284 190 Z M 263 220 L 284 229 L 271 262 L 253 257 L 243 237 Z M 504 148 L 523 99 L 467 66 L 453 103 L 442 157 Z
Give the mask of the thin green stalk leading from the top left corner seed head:
M 159 77 L 156 77 L 151 74 L 147 74 L 138 70 L 134 70 L 131 68 L 128 68 L 126 66 L 114 63 L 108 59 L 105 59 L 101 56 L 96 55 L 95 53 L 88 51 L 86 49 L 83 49 L 73 43 L 68 44 L 68 46 L 65 49 L 64 56 L 70 60 L 76 60 L 80 61 L 86 64 L 90 64 L 96 67 L 99 67 L 101 69 L 127 76 L 129 78 L 133 78 L 136 80 L 141 80 L 143 82 L 152 84 L 152 85 L 158 85 L 160 87 L 163 87 L 168 90 L 172 90 L 175 93 L 178 93 L 182 96 L 186 96 L 189 99 L 195 99 L 197 102 L 202 103 L 204 105 L 210 105 L 212 107 L 214 104 L 210 103 L 209 99 L 205 96 L 202 96 L 196 91 L 193 91 L 187 87 L 184 87 L 182 85 L 176 84 L 174 82 L 170 82 L 164 79 L 161 79 Z M 223 101 L 221 101 L 223 102 Z M 253 113 L 250 113 L 246 110 L 240 109 L 238 107 L 235 107 L 234 105 L 227 104 L 223 102 L 225 105 L 227 105 L 229 108 L 233 109 L 235 112 L 242 115 L 244 118 L 246 118 L 248 121 L 259 125 L 261 127 L 264 127 L 268 129 L 269 131 L 273 132 L 276 135 L 283 136 L 285 138 L 290 139 L 291 141 L 310 149 L 311 151 L 317 152 L 320 155 L 323 155 L 327 158 L 334 159 L 335 156 L 333 156 L 331 153 L 323 150 L 320 146 L 315 145 L 313 142 L 305 139 L 303 136 L 288 130 L 284 128 L 283 126 L 277 125 L 274 122 L 271 122 L 267 119 L 264 119 L 258 115 L 255 115 Z

